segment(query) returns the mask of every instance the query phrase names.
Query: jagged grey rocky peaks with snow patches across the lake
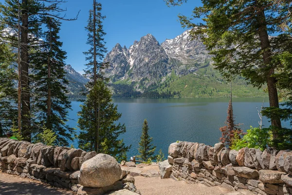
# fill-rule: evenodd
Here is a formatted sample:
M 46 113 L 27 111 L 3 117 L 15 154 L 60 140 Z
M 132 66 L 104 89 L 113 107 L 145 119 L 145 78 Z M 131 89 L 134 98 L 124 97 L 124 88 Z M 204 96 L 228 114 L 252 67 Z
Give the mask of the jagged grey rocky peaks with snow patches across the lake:
M 190 30 L 162 44 L 148 34 L 134 41 L 129 48 L 119 43 L 107 54 L 105 62 L 110 67 L 105 71 L 111 80 L 139 81 L 161 79 L 172 71 L 176 75 L 195 72 L 201 64 L 211 59 L 200 40 L 192 40 Z

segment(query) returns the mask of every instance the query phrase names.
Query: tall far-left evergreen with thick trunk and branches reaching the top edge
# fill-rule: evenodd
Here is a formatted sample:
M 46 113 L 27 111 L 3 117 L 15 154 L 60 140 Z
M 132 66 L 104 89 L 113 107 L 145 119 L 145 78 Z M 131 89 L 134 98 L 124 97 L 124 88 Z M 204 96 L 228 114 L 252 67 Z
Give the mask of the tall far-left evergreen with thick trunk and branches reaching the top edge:
M 31 140 L 31 124 L 36 120 L 32 118 L 32 86 L 30 73 L 32 71 L 31 61 L 32 54 L 39 48 L 39 39 L 41 38 L 41 24 L 44 16 L 51 16 L 61 20 L 67 20 L 59 16 L 60 12 L 65 11 L 60 8 L 60 4 L 66 1 L 63 0 L 5 0 L 4 4 L 0 3 L 0 19 L 5 24 L 5 27 L 11 29 L 12 36 L 5 36 L 5 41 L 18 48 L 20 45 L 20 71 L 18 77 L 21 82 L 21 134 L 25 140 Z M 20 20 L 20 22 L 18 22 Z M 69 19 L 75 20 L 75 19 Z M 16 32 L 20 30 L 19 36 Z M 20 38 L 20 44 L 18 39 Z M 20 99 L 20 98 L 18 98 Z M 20 124 L 20 122 L 18 123 Z M 18 127 L 20 128 L 20 127 Z

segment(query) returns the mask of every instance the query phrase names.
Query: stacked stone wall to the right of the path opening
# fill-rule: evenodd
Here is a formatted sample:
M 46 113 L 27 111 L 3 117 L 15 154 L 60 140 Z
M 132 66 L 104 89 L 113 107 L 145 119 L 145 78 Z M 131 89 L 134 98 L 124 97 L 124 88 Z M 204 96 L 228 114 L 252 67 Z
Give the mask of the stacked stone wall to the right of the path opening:
M 168 149 L 170 177 L 230 190 L 247 189 L 258 195 L 292 194 L 292 152 L 266 149 L 227 149 L 202 143 L 177 142 Z

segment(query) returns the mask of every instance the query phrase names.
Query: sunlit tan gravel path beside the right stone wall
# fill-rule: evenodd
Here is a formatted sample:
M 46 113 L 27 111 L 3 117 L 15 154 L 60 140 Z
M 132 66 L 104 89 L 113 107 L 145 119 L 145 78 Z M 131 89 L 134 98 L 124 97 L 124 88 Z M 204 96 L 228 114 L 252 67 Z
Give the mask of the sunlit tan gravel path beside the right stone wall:
M 142 195 L 222 195 L 228 191 L 219 186 L 189 184 L 185 181 L 161 179 L 160 177 L 135 176 L 135 186 Z

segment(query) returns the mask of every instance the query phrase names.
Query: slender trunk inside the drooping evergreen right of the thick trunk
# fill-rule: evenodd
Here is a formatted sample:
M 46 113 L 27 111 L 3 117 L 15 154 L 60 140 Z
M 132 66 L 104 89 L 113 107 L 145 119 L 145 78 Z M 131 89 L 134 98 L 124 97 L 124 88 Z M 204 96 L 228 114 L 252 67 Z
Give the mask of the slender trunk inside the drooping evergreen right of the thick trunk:
M 49 21 L 51 22 L 51 21 Z M 51 115 L 52 115 L 52 94 L 51 94 L 51 52 L 52 52 L 52 31 L 49 23 L 50 30 L 50 53 L 48 56 L 48 98 L 47 98 L 47 129 L 52 129 Z

